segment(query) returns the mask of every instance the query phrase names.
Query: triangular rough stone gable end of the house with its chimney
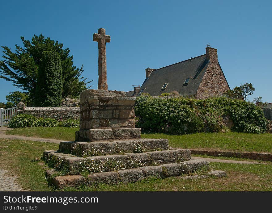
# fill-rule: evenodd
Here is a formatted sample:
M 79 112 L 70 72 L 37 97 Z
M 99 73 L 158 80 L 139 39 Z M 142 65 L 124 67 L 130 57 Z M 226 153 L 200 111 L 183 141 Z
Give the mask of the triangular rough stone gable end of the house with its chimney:
M 230 90 L 223 71 L 218 63 L 217 49 L 206 48 L 206 60 L 208 67 L 198 87 L 196 98 L 204 99 L 211 96 L 218 96 Z

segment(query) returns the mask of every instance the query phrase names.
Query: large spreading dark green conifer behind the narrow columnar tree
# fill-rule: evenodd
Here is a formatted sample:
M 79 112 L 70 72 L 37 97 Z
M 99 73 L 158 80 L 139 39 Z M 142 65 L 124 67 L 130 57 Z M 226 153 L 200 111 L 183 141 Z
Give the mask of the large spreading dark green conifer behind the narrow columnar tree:
M 81 68 L 73 66 L 73 55 L 69 56 L 70 49 L 63 48 L 58 41 L 45 38 L 42 34 L 34 35 L 32 40 L 25 40 L 21 36 L 23 47 L 15 45 L 15 52 L 11 48 L 2 46 L 4 60 L 0 61 L 0 78 L 11 81 L 14 86 L 28 93 L 30 101 L 33 102 L 37 86 L 38 70 L 44 51 L 55 50 L 60 55 L 62 69 L 62 97 L 76 97 L 87 88 L 87 78 L 82 76 Z

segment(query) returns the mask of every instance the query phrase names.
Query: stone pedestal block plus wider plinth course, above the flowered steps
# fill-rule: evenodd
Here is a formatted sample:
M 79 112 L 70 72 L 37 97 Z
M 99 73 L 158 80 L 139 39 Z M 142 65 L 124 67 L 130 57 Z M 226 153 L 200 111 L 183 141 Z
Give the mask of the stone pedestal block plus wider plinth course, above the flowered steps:
M 122 91 L 83 91 L 80 94 L 80 125 L 76 141 L 140 138 L 141 129 L 135 128 L 135 101 L 135 97 L 125 97 Z

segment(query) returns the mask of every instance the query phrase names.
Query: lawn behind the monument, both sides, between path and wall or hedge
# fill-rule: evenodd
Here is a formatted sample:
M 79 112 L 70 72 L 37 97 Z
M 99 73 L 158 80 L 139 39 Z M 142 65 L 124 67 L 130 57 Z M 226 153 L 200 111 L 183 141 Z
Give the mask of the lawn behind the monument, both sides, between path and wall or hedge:
M 79 128 L 28 127 L 6 131 L 6 134 L 74 140 Z M 196 133 L 191 135 L 142 134 L 142 138 L 167 138 L 172 148 L 200 148 L 222 151 L 272 152 L 272 134 Z

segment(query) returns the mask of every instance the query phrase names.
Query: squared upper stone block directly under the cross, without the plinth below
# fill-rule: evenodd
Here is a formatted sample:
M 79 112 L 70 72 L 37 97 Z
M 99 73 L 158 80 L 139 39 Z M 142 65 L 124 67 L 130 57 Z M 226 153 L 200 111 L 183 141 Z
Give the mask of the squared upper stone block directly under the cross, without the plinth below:
M 134 128 L 136 98 L 125 92 L 85 90 L 80 95 L 80 130 Z

